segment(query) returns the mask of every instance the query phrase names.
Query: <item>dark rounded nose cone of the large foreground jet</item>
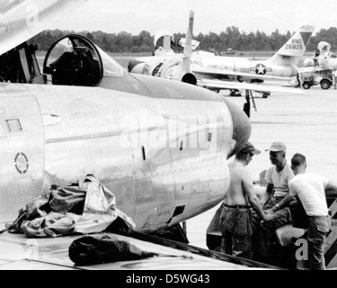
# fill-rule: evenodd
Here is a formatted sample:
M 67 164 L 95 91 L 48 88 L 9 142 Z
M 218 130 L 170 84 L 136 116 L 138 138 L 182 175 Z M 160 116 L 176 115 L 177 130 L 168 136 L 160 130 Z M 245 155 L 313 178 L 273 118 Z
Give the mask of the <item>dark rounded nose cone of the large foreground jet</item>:
M 229 111 L 231 112 L 233 119 L 233 139 L 235 139 L 236 144 L 233 151 L 228 155 L 227 158 L 234 156 L 238 151 L 244 148 L 245 143 L 250 139 L 252 133 L 251 121 L 235 103 L 231 103 L 228 99 L 223 98 L 227 104 Z

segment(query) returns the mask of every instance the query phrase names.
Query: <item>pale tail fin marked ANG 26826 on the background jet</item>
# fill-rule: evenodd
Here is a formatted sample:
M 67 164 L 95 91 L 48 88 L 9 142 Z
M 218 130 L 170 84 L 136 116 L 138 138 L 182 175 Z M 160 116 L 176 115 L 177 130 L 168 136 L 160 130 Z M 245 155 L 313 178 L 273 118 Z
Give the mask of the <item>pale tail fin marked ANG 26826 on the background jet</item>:
M 297 31 L 286 44 L 271 58 L 271 60 L 279 57 L 303 57 L 306 52 L 306 46 L 313 35 L 315 26 L 305 25 L 300 31 Z

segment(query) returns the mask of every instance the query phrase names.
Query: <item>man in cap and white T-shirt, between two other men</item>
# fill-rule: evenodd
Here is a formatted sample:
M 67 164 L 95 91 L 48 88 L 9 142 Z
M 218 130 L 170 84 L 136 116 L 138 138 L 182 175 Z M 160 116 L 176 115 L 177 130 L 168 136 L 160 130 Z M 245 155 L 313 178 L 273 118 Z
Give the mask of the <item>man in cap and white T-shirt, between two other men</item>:
M 256 229 L 256 260 L 273 263 L 271 248 L 276 243 L 275 230 L 291 221 L 289 203 L 294 197 L 289 195 L 289 181 L 294 177 L 291 167 L 286 160 L 287 147 L 283 142 L 273 142 L 270 148 L 270 162 L 272 166 L 267 170 L 266 192 L 262 194 L 261 204 L 265 213 L 272 215 L 270 220 L 262 220 L 254 215 L 254 229 Z

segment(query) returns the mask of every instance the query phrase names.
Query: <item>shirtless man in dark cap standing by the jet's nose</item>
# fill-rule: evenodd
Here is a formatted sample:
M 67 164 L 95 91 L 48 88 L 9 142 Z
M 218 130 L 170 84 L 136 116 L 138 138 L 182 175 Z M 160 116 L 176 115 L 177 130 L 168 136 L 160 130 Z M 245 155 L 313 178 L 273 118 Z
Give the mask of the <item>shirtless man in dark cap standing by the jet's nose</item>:
M 248 142 L 229 164 L 230 184 L 220 216 L 221 250 L 236 257 L 252 258 L 253 211 L 263 220 L 270 220 L 254 193 L 253 180 L 247 165 L 261 151 Z M 249 205 L 250 204 L 250 205 Z

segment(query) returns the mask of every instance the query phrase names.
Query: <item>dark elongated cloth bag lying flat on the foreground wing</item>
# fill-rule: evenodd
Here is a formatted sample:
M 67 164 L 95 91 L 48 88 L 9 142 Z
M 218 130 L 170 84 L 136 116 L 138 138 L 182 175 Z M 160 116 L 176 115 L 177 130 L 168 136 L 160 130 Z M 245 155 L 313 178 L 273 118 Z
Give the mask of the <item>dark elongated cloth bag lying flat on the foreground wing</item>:
M 69 247 L 69 258 L 77 266 L 138 260 L 158 256 L 131 243 L 108 235 L 76 239 Z

